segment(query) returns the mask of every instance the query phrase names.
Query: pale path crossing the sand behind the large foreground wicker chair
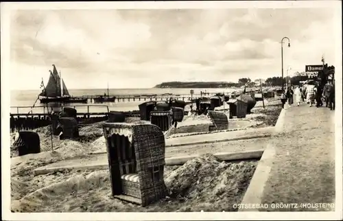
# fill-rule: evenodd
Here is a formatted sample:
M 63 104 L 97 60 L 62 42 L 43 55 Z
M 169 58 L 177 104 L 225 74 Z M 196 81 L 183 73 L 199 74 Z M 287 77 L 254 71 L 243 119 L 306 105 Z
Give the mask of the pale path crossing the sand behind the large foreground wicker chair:
M 218 152 L 244 152 L 264 149 L 268 143 L 274 127 L 250 128 L 232 132 L 215 132 L 213 134 L 193 135 L 189 137 L 175 137 L 166 139 L 165 157 L 190 156 L 194 154 L 218 153 Z M 248 139 L 249 138 L 249 139 Z M 217 142 L 219 141 L 219 142 Z M 191 143 L 189 145 L 182 145 Z M 182 146 L 180 146 L 182 145 Z M 73 159 L 57 161 L 42 168 L 107 168 L 108 159 L 106 146 L 88 156 L 76 156 Z

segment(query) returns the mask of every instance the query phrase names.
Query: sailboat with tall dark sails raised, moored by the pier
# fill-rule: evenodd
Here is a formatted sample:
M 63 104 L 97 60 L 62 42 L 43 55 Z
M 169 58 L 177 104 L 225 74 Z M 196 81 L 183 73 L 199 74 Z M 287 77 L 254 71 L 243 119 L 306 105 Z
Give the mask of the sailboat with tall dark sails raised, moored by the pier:
M 71 97 L 67 86 L 64 84 L 64 80 L 58 75 L 55 65 L 53 71 L 49 70 L 50 77 L 47 82 L 47 86 L 39 94 L 40 103 L 47 104 L 50 102 L 60 103 L 87 103 L 87 98 L 83 97 Z

